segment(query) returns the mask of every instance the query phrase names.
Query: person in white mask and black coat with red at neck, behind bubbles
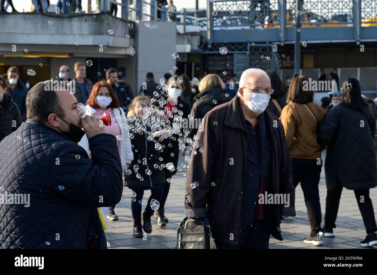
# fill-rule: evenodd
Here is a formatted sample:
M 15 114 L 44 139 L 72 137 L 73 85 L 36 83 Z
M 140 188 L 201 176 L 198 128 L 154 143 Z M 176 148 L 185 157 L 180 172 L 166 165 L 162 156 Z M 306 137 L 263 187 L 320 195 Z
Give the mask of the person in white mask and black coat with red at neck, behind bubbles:
M 173 119 L 173 116 L 176 114 L 178 114 L 181 117 L 181 119 L 178 119 L 179 121 L 183 119 L 187 122 L 187 116 L 190 114 L 191 110 L 191 105 L 188 104 L 186 100 L 184 100 L 184 98 L 188 98 L 189 96 L 189 89 L 186 88 L 185 81 L 183 80 L 182 83 L 179 83 L 180 81 L 178 80 L 178 78 L 180 77 L 178 75 L 175 75 L 168 81 L 169 86 L 167 88 L 166 97 L 167 103 L 165 104 L 165 119 L 166 121 L 169 121 L 167 122 L 168 125 L 173 125 L 173 123 L 177 121 Z M 170 117 L 168 117 L 169 115 Z M 185 124 L 183 123 L 182 128 L 184 126 Z M 164 162 L 173 163 L 175 169 L 173 171 L 170 171 L 168 169 L 165 170 L 166 183 L 164 185 L 164 194 L 162 195 L 162 198 L 160 200 L 160 208 L 156 211 L 156 223 L 159 227 L 166 226 L 166 223 L 169 221 L 165 217 L 164 206 L 167 199 L 167 195 L 169 194 L 171 178 L 177 172 L 179 158 L 179 143 L 182 143 L 179 141 L 181 140 L 183 140 L 183 138 L 180 138 L 178 134 L 174 134 L 172 138 L 166 138 L 163 141 L 165 148 L 164 151 L 161 152 L 161 155 L 164 159 Z

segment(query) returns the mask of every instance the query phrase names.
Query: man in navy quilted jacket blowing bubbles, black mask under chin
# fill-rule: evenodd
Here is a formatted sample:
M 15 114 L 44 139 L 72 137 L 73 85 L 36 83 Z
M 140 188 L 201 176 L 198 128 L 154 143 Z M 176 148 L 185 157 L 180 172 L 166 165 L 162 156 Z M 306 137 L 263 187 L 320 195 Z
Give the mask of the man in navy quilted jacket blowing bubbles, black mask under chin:
M 72 93 L 49 85 L 35 84 L 28 120 L 0 142 L 0 247 L 106 249 L 97 207 L 122 196 L 116 138 L 99 118 L 79 117 Z M 77 144 L 83 134 L 92 159 Z

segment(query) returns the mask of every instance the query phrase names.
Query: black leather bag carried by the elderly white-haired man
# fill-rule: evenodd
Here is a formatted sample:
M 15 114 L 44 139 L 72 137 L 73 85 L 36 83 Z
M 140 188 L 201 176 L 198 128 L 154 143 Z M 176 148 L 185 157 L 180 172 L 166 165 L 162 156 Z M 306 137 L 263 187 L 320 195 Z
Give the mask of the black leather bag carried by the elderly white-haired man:
M 211 225 L 207 218 L 182 220 L 177 230 L 176 249 L 210 249 Z

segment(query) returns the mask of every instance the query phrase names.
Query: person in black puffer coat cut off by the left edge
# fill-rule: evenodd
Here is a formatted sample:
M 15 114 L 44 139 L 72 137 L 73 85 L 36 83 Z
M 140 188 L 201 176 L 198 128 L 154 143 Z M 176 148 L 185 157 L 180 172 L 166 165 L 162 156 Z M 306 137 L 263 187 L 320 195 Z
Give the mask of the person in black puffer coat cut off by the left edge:
M 7 93 L 8 88 L 9 84 L 0 76 L 0 141 L 16 131 L 22 123 L 20 110 Z

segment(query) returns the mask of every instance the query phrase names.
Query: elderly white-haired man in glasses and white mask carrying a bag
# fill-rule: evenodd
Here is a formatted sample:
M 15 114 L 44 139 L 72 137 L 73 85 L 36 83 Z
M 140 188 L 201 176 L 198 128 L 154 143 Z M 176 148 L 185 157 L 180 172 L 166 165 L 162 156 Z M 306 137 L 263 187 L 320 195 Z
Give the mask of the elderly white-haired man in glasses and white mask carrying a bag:
M 283 240 L 280 215 L 296 215 L 284 128 L 266 110 L 272 93 L 264 71 L 247 69 L 238 96 L 202 120 L 185 209 L 187 217 L 208 218 L 211 248 L 268 249 L 270 235 Z

